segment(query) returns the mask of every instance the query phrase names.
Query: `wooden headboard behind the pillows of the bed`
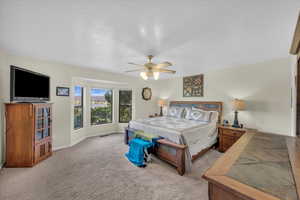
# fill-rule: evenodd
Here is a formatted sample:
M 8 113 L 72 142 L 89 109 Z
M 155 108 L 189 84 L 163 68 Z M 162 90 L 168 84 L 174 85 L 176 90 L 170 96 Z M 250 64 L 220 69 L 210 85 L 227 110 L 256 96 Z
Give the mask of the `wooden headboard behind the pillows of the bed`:
M 219 112 L 218 123 L 222 121 L 223 103 L 220 101 L 171 101 L 170 106 L 194 107 L 207 111 Z

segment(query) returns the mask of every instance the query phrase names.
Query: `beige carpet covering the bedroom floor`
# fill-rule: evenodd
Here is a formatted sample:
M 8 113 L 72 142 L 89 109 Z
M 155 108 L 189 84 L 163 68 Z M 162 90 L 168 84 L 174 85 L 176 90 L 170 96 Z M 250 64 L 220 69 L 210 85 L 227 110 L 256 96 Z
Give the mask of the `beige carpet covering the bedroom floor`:
M 145 169 L 124 157 L 123 135 L 94 137 L 60 150 L 33 168 L 0 172 L 1 200 L 207 200 L 203 172 L 220 156 L 209 151 L 179 176 L 174 168 L 154 160 Z

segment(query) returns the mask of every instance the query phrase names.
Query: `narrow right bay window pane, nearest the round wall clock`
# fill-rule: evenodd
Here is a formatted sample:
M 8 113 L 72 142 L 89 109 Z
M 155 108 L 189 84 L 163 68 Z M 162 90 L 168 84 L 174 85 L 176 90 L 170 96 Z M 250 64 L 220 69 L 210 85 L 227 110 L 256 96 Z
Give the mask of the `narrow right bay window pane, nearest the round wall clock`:
M 132 118 L 132 91 L 119 91 L 119 122 L 128 123 Z

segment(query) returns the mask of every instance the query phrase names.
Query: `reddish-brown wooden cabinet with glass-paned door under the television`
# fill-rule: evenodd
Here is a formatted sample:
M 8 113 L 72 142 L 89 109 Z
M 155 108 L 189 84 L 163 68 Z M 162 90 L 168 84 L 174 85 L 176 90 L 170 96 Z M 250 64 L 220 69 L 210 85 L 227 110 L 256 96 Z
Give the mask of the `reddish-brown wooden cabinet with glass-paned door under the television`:
M 6 104 L 6 167 L 32 167 L 52 155 L 51 106 Z

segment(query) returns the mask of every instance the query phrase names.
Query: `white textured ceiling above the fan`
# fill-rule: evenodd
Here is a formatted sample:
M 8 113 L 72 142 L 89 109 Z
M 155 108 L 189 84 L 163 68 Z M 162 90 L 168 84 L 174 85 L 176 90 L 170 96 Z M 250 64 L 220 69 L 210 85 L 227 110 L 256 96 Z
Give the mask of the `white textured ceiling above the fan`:
M 0 0 L 0 48 L 122 73 L 170 61 L 178 75 L 287 57 L 299 0 Z

